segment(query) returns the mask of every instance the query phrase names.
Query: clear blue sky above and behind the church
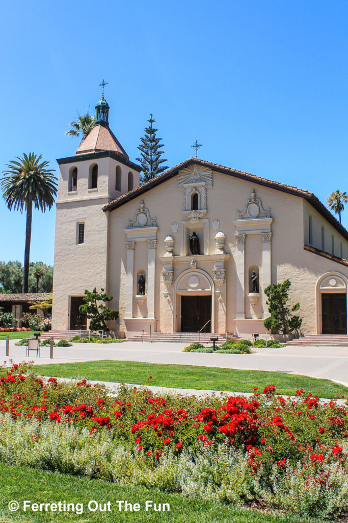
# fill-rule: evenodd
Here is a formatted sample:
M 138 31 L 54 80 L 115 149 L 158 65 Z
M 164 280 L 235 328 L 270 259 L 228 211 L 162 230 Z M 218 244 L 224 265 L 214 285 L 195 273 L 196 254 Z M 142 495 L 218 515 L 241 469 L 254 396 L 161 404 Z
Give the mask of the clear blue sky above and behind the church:
M 166 165 L 199 157 L 314 192 L 346 190 L 348 4 L 338 1 L 12 1 L 2 5 L 5 169 L 53 168 L 105 78 L 110 127 L 131 160 L 152 112 Z M 55 210 L 33 215 L 31 261 L 53 263 Z M 342 223 L 348 227 L 348 206 Z M 23 261 L 25 215 L 0 200 L 0 260 Z

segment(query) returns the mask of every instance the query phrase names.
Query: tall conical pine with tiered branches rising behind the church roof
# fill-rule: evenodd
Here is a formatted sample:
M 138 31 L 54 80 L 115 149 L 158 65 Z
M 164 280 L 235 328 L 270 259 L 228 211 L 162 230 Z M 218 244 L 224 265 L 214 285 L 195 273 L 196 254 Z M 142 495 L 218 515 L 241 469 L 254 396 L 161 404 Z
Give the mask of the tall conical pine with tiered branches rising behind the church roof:
M 166 160 L 161 158 L 164 153 L 164 151 L 162 151 L 164 144 L 160 145 L 162 138 L 156 137 L 158 129 L 152 127 L 152 124 L 155 122 L 152 116 L 153 115 L 150 115 L 150 120 L 148 120 L 150 126 L 145 128 L 145 136 L 140 138 L 141 144 L 138 147 L 139 151 L 141 151 L 140 158 L 136 158 L 142 168 L 140 175 L 141 184 L 145 184 L 147 181 L 162 173 L 163 170 L 167 169 L 166 166 L 161 165 L 166 162 Z

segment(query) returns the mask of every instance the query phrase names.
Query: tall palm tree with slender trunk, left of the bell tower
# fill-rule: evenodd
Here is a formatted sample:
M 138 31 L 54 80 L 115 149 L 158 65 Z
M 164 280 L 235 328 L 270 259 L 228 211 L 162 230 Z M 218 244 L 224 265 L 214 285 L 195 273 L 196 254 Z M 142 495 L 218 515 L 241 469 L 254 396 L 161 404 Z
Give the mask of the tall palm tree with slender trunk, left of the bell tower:
M 27 211 L 22 292 L 28 292 L 32 207 L 34 204 L 41 212 L 52 208 L 57 195 L 57 178 L 53 175 L 54 170 L 46 168 L 49 162 L 40 163 L 42 155 L 30 153 L 16 158 L 18 161 L 11 160 L 6 166 L 8 170 L 3 171 L 1 186 L 9 210 Z

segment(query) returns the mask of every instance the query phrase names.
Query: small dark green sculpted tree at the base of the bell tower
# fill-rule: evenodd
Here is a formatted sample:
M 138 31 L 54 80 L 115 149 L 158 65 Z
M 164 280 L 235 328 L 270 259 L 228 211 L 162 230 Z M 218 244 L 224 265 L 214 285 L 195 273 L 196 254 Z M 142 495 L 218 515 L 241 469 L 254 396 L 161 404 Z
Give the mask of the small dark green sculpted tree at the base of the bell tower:
M 81 314 L 86 314 L 90 321 L 89 328 L 92 331 L 108 331 L 105 322 L 109 320 L 117 320 L 118 311 L 110 309 L 106 306 L 106 302 L 113 299 L 113 296 L 108 296 L 104 289 L 101 292 L 97 292 L 97 287 L 94 287 L 92 292 L 85 290 L 85 297 L 83 298 L 83 304 L 79 306 Z

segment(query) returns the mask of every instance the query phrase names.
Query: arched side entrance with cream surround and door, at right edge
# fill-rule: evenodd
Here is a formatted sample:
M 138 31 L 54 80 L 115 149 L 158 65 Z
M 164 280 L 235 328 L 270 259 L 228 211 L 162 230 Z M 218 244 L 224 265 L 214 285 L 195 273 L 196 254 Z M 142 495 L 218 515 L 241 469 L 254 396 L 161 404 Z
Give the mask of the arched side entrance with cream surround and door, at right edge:
M 317 282 L 317 333 L 347 334 L 348 280 L 340 272 L 326 272 Z

